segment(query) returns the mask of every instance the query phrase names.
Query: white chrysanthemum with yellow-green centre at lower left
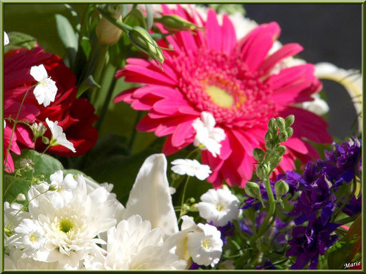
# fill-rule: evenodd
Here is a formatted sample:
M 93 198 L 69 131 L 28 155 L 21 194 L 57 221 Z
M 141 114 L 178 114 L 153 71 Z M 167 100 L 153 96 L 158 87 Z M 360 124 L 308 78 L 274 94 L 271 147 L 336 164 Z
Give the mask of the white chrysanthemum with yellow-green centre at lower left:
M 110 193 L 100 187 L 88 194 L 82 175 L 76 177 L 76 182 L 72 199 L 63 208 L 54 207 L 52 196 L 41 195 L 30 202 L 30 215 L 39 221 L 46 238 L 34 260 L 58 261 L 64 268 L 78 267 L 80 260 L 99 248 L 97 244 L 105 244 L 95 236 L 117 223 L 113 216 L 118 202 L 108 199 Z M 30 188 L 28 200 L 39 194 L 36 188 Z

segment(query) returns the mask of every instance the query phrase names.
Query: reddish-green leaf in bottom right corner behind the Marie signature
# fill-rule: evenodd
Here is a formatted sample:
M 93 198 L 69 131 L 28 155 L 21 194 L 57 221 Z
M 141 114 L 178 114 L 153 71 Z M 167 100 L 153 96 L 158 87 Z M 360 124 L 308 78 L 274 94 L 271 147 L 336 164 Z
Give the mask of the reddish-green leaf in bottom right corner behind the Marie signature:
M 362 248 L 362 215 L 348 229 L 347 234 L 336 242 L 328 253 L 329 269 L 342 269 L 344 264 L 352 262 Z

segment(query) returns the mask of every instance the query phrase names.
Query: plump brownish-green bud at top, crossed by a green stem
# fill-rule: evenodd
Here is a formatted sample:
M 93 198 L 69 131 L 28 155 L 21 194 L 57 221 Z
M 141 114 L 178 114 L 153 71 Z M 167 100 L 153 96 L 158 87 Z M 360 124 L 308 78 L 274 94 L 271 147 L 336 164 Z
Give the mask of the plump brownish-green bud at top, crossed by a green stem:
M 120 5 L 108 5 L 108 13 L 117 19 L 117 21 L 122 22 L 122 8 Z M 97 27 L 95 27 L 95 34 L 97 35 L 100 44 L 112 45 L 121 38 L 122 29 L 113 25 L 103 16 Z

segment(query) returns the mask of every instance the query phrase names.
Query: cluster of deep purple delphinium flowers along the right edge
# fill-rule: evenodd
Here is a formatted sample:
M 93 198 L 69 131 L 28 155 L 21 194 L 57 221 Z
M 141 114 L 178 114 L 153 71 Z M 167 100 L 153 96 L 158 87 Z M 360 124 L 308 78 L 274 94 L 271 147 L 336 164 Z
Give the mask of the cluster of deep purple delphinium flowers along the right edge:
M 332 151 L 325 151 L 325 160 L 306 164 L 301 180 L 295 184 L 301 195 L 290 215 L 297 216 L 294 220 L 296 225 L 306 221 L 308 225 L 295 227 L 293 238 L 288 241 L 290 249 L 286 256 L 297 256 L 292 269 L 303 269 L 308 262 L 309 269 L 315 269 L 319 255 L 323 255 L 338 239 L 331 234 L 339 225 L 329 222 L 337 206 L 336 196 L 332 193 L 343 182 L 351 182 L 361 171 L 361 151 L 361 140 L 353 138 L 342 145 L 333 144 Z M 361 212 L 361 199 L 352 197 L 343 212 L 349 215 Z

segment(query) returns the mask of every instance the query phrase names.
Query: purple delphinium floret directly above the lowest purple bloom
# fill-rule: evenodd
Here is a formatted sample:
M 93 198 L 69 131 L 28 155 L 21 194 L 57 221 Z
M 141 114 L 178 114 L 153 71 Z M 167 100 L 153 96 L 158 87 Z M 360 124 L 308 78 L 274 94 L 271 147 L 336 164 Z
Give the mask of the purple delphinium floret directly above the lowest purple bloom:
M 323 174 L 301 192 L 293 212 L 290 213 L 290 216 L 299 216 L 294 220 L 296 225 L 308 221 L 310 215 L 318 210 L 321 210 L 321 220 L 323 223 L 328 221 L 332 215 L 333 202 L 336 198 L 331 194 L 330 187 L 332 186 L 327 181 L 325 174 Z

